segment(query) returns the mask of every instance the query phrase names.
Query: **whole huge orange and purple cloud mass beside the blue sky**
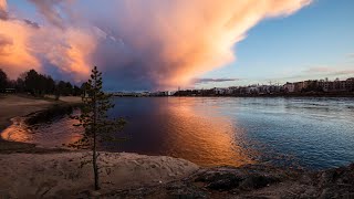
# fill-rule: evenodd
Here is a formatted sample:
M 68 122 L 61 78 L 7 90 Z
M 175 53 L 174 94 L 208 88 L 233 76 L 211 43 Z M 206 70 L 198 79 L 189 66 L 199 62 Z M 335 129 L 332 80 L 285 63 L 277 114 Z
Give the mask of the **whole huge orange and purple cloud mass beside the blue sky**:
M 0 66 L 80 81 L 92 65 L 108 88 L 188 85 L 235 60 L 232 46 L 259 21 L 311 0 L 28 0 L 44 19 L 18 19 L 0 0 Z

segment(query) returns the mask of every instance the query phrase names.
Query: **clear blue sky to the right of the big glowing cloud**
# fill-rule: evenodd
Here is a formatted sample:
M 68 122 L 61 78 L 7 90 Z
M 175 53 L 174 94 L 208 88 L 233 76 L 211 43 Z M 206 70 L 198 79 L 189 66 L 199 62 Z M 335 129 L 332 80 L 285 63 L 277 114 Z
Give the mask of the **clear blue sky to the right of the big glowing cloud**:
M 354 1 L 316 0 L 290 17 L 262 21 L 235 45 L 236 62 L 204 75 L 236 81 L 198 87 L 353 77 L 352 19 Z

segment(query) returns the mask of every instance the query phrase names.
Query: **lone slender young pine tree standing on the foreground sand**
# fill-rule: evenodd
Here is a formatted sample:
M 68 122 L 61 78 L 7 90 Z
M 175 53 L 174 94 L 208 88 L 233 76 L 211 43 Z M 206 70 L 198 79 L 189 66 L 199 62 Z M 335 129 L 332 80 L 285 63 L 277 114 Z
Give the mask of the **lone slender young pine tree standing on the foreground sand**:
M 82 138 L 71 147 L 92 150 L 92 166 L 94 171 L 94 186 L 100 189 L 100 176 L 97 157 L 97 145 L 103 142 L 117 140 L 115 133 L 121 132 L 125 125 L 123 118 L 110 119 L 107 111 L 114 107 L 111 103 L 112 95 L 102 91 L 102 73 L 95 66 L 92 70 L 91 78 L 85 83 L 85 92 L 83 94 L 83 107 L 81 115 L 76 117 L 80 122 L 75 126 L 84 128 Z

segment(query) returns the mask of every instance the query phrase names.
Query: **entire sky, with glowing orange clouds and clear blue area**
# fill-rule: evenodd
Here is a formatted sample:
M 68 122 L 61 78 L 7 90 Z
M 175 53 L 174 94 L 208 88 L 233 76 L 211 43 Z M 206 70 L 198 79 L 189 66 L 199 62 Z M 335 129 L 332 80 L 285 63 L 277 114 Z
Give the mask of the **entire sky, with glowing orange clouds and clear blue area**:
M 354 76 L 352 0 L 0 0 L 0 67 L 108 91 Z

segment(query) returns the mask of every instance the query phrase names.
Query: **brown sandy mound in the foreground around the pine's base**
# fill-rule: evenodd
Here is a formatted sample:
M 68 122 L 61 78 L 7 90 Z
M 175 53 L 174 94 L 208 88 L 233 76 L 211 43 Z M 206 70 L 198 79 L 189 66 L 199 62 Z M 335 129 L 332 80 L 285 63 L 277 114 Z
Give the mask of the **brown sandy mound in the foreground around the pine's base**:
M 0 155 L 0 198 L 73 196 L 93 190 L 92 165 L 79 168 L 84 153 Z M 198 166 L 165 156 L 102 153 L 100 192 L 163 185 L 181 179 Z M 104 160 L 104 161 L 102 161 Z

